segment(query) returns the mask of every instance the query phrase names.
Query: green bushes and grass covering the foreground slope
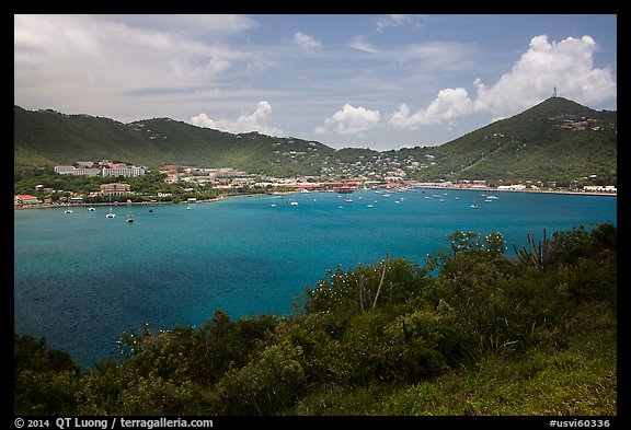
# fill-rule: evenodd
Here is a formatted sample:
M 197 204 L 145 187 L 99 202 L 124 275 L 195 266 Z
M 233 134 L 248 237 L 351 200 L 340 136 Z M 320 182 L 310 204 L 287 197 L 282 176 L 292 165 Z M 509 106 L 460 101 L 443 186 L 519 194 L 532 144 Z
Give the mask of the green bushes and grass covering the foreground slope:
M 615 416 L 617 229 L 528 237 L 331 270 L 290 317 L 147 324 L 93 369 L 14 334 L 14 412 Z

